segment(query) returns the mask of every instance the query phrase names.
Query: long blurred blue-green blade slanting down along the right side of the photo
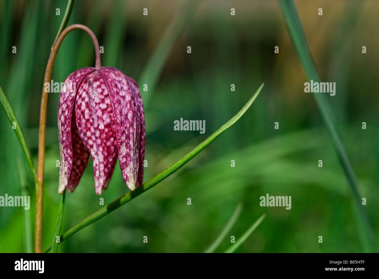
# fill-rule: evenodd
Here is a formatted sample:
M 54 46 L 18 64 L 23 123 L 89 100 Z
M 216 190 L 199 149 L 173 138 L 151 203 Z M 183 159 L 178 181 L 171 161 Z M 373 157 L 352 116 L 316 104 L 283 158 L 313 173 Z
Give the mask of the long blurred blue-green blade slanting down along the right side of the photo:
M 305 39 L 304 31 L 293 1 L 279 0 L 279 3 L 282 8 L 283 17 L 287 25 L 288 33 L 290 34 L 294 47 L 298 52 L 299 58 L 304 67 L 305 73 L 307 74 L 308 79 L 313 79 L 314 82 L 319 82 L 320 78 L 317 73 L 315 64 L 313 62 L 312 55 L 310 54 L 310 50 Z M 368 221 L 365 208 L 363 208 L 361 203 L 362 197 L 359 193 L 357 178 L 355 176 L 345 147 L 342 143 L 341 137 L 335 125 L 336 121 L 334 117 L 334 112 L 331 109 L 325 94 L 313 93 L 313 95 L 315 96 L 321 117 L 323 118 L 326 128 L 330 134 L 330 137 L 332 138 L 332 142 L 337 152 L 338 159 L 349 182 L 349 186 L 352 190 L 354 200 L 356 201 L 356 206 L 359 210 L 360 218 L 362 219 L 362 223 L 364 224 L 364 227 L 361 230 L 359 230 L 359 232 L 364 233 L 364 235 L 361 236 L 361 239 L 364 241 L 368 241 L 368 243 L 363 244 L 363 247 L 371 247 L 371 252 L 377 252 L 378 249 L 375 236 L 371 228 L 370 222 Z

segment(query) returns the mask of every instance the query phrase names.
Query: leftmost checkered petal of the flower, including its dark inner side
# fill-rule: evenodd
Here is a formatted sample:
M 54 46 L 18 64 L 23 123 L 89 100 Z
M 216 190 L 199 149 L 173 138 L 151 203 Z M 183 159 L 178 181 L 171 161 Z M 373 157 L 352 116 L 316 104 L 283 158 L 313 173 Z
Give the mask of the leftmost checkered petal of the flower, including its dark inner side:
M 61 158 L 58 192 L 60 194 L 67 186 L 69 191 L 74 191 L 88 162 L 89 153 L 79 138 L 72 116 L 77 89 L 82 80 L 95 70 L 91 67 L 78 69 L 64 80 L 61 88 L 58 104 L 58 140 Z

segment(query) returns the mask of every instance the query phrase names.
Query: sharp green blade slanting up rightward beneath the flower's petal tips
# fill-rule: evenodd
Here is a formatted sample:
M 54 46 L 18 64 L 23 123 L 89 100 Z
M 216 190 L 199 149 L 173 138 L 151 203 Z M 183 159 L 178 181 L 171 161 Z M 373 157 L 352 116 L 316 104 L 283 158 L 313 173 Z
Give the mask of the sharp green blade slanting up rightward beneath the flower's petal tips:
M 83 221 L 76 224 L 71 229 L 67 230 L 63 235 L 61 235 L 61 242 L 66 240 L 69 236 L 73 235 L 74 233 L 78 232 L 79 230 L 83 229 L 84 227 L 88 226 L 89 224 L 92 224 L 93 222 L 99 220 L 100 218 L 106 216 L 107 214 L 111 213 L 113 210 L 119 208 L 121 205 L 124 205 L 125 203 L 129 202 L 130 200 L 134 199 L 135 197 L 139 196 L 143 192 L 146 192 L 148 189 L 152 188 L 156 184 L 158 184 L 160 181 L 164 180 L 165 178 L 169 177 L 172 173 L 179 170 L 181 167 L 183 167 L 189 160 L 194 158 L 197 154 L 200 153 L 205 147 L 210 145 L 213 140 L 215 140 L 219 135 L 221 135 L 223 132 L 225 132 L 230 126 L 232 126 L 234 123 L 238 121 L 238 119 L 241 118 L 241 116 L 249 109 L 251 104 L 254 102 L 255 98 L 257 98 L 259 92 L 262 90 L 264 84 L 262 84 L 257 91 L 255 91 L 254 95 L 247 101 L 247 103 L 243 106 L 243 108 L 229 121 L 227 121 L 224 125 L 222 125 L 216 132 L 211 134 L 204 142 L 200 143 L 195 147 L 193 150 L 189 151 L 183 158 L 176 161 L 174 164 L 169 166 L 167 169 L 163 170 L 163 172 L 158 173 L 155 175 L 155 177 L 151 178 L 150 180 L 146 181 L 144 184 L 141 185 L 141 187 L 137 188 L 133 192 L 129 192 L 122 197 L 119 197 L 114 202 L 108 204 L 104 208 L 96 211 L 92 215 L 88 216 Z M 51 246 L 47 248 L 47 250 L 50 250 Z

